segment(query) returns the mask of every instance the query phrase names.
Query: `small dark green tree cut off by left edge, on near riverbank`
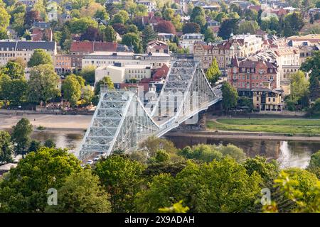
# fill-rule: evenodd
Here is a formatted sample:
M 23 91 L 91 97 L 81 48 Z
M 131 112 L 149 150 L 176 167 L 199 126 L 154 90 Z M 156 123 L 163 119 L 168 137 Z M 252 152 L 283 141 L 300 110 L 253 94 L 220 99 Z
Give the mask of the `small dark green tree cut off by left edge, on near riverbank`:
M 0 164 L 12 162 L 14 154 L 14 145 L 11 143 L 10 134 L 6 131 L 0 131 Z

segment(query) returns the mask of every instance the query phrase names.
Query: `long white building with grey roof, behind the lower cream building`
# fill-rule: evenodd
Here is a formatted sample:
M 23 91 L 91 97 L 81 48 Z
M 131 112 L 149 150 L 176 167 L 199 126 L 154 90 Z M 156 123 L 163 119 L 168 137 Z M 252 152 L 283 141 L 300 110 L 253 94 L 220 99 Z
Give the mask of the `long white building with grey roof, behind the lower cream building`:
M 163 65 L 169 65 L 171 55 L 154 52 L 148 54 L 134 54 L 133 52 L 93 52 L 83 56 L 82 67 L 93 65 L 95 67 L 122 63 L 123 65 L 151 65 L 151 69 L 157 69 Z

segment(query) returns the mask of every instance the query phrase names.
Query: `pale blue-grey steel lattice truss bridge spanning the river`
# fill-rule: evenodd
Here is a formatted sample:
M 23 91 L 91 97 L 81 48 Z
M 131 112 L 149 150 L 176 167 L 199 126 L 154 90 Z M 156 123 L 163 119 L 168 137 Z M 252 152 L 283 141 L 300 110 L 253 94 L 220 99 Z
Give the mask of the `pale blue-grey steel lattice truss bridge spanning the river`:
M 137 92 L 102 89 L 79 158 L 87 160 L 97 153 L 110 155 L 115 150 L 137 148 L 149 136 L 164 135 L 221 99 L 220 90 L 210 87 L 193 60 L 171 63 L 164 87 L 152 105 L 144 106 Z M 197 118 L 191 123 L 194 121 Z

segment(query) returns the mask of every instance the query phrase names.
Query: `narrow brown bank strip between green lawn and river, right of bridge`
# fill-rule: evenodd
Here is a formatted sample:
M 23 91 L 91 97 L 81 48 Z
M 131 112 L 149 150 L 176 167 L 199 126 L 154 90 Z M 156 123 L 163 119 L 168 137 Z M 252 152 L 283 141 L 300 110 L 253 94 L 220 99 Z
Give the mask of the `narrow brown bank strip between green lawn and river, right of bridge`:
M 252 133 L 252 132 L 236 132 L 236 131 L 171 131 L 166 133 L 171 137 L 187 137 L 187 138 L 230 138 L 230 139 L 251 139 L 251 140 L 304 140 L 304 141 L 320 141 L 319 136 L 307 136 L 304 134 L 295 134 L 292 136 L 282 133 Z

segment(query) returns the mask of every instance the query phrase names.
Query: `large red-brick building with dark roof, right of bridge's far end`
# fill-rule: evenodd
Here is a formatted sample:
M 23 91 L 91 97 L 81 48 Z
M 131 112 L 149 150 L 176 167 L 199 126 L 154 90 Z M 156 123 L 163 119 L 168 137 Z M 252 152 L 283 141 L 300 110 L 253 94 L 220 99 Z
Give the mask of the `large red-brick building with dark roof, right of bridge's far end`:
M 270 89 L 280 87 L 277 65 L 260 60 L 255 57 L 247 57 L 239 61 L 233 57 L 228 68 L 228 81 L 237 89 L 257 89 L 270 84 Z

